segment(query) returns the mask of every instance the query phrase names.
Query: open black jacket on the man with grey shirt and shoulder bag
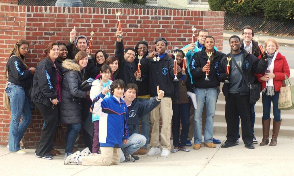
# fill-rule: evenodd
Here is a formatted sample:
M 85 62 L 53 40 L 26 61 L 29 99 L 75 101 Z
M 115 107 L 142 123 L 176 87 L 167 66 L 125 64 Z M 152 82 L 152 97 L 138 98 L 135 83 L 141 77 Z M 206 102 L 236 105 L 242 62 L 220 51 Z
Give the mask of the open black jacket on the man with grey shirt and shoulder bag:
M 249 54 L 246 52 L 244 48 L 240 48 L 243 51 L 243 58 L 242 58 L 242 71 L 244 75 L 247 77 L 250 84 L 252 84 L 255 80 L 254 74 L 264 73 L 265 70 L 268 68 L 268 61 L 264 61 L 263 59 L 259 60 L 257 57 L 255 57 L 252 54 Z M 223 59 L 220 60 L 220 64 L 218 67 L 218 78 L 220 82 L 225 82 L 224 79 L 222 79 L 222 75 L 226 72 L 226 67 L 228 64 L 227 57 L 230 56 L 230 54 L 227 54 L 223 57 Z M 230 65 L 232 65 L 232 59 L 230 60 Z M 232 72 L 232 67 L 230 67 L 229 73 Z M 230 75 L 230 77 L 233 77 L 234 75 Z M 230 81 L 230 80 L 229 80 Z M 230 84 L 224 84 L 223 85 L 223 94 L 224 96 L 228 96 L 229 94 L 229 87 Z M 246 85 L 245 80 L 242 78 L 241 81 L 241 95 L 248 95 L 249 94 L 249 87 Z

